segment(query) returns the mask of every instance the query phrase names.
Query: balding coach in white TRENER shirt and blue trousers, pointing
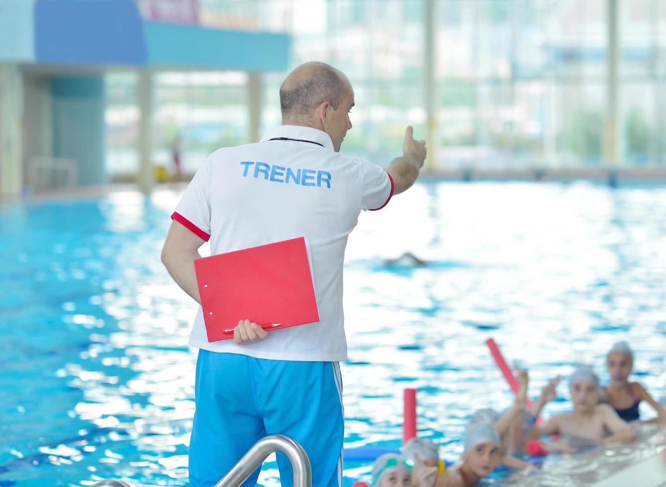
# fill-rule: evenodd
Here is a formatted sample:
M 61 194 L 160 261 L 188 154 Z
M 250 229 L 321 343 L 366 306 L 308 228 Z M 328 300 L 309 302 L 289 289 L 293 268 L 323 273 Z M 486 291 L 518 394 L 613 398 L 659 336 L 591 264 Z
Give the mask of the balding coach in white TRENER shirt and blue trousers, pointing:
M 426 143 L 408 126 L 402 156 L 386 170 L 339 154 L 354 90 L 324 63 L 300 65 L 280 87 L 282 125 L 256 144 L 221 148 L 200 166 L 172 214 L 162 261 L 200 303 L 194 259 L 305 237 L 310 244 L 320 321 L 267 333 L 242 319 L 233 340 L 208 343 L 201 309 L 189 344 L 199 349 L 190 483 L 214 486 L 266 434 L 305 448 L 316 487 L 342 485 L 342 378 L 347 358 L 342 261 L 361 210 L 380 210 L 408 189 Z M 282 485 L 288 460 L 278 455 Z M 243 485 L 254 485 L 259 470 Z

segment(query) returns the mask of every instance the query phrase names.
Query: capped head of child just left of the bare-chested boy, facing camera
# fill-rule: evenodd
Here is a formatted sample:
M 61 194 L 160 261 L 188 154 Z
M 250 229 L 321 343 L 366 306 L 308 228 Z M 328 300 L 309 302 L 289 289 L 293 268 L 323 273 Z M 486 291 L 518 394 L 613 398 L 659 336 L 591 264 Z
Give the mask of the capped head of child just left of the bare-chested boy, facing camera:
M 464 460 L 481 478 L 489 476 L 501 461 L 501 440 L 492 424 L 473 424 L 465 435 Z

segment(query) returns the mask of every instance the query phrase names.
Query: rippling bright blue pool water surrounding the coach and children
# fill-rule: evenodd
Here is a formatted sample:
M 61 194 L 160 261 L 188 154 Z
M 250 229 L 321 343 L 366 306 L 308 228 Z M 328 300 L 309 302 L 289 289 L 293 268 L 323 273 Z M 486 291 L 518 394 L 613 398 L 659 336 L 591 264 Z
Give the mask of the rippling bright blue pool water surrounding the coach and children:
M 159 259 L 179 196 L 0 204 L 0 486 L 186 485 L 195 307 Z M 384 265 L 404 251 L 434 265 Z M 345 272 L 348 448 L 398 447 L 416 387 L 420 435 L 456 459 L 470 412 L 511 403 L 488 337 L 532 396 L 575 363 L 607 377 L 619 339 L 665 393 L 663 186 L 418 184 L 362 214 Z M 346 485 L 369 470 L 346 464 Z

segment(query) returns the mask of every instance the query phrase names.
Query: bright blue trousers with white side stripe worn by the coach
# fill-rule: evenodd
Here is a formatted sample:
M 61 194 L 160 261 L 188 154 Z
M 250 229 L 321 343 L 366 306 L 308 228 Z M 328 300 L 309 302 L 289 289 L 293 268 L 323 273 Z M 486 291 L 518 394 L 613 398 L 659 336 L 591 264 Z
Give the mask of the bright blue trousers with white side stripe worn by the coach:
M 342 486 L 342 378 L 337 362 L 254 359 L 199 350 L 190 484 L 213 487 L 267 434 L 298 441 L 310 458 L 312 486 Z M 280 482 L 291 466 L 277 455 Z M 243 486 L 256 484 L 257 469 Z

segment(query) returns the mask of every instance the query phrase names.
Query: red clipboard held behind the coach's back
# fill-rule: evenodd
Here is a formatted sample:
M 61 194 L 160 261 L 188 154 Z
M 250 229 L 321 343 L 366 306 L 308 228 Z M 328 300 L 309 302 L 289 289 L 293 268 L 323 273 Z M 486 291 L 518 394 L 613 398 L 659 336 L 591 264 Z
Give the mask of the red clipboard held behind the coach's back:
M 274 331 L 319 321 L 302 237 L 194 259 L 194 270 L 209 343 L 233 338 L 241 319 Z

